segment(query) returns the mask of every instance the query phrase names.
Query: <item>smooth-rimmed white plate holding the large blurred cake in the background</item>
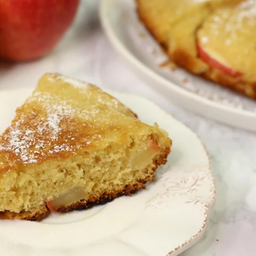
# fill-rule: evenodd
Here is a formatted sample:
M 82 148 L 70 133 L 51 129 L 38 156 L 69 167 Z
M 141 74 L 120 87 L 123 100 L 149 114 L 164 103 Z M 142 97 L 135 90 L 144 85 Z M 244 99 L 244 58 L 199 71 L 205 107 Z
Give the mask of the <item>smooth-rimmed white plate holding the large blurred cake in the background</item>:
M 139 22 L 134 0 L 101 1 L 100 17 L 113 46 L 148 85 L 188 110 L 256 131 L 256 102 L 181 69 L 159 67 L 166 56 Z

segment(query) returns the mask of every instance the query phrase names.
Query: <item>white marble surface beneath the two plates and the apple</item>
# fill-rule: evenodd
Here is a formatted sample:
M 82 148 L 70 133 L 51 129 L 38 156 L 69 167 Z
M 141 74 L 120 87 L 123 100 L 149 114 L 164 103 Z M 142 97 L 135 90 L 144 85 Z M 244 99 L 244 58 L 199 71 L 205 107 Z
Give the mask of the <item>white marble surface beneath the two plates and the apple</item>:
M 49 56 L 30 63 L 0 63 L 0 93 L 34 87 L 44 72 L 59 72 L 151 99 L 200 136 L 217 180 L 217 202 L 206 236 L 181 255 L 256 255 L 256 135 L 185 112 L 148 88 L 113 50 L 89 2 L 96 5 L 98 0 L 82 2 L 73 29 Z

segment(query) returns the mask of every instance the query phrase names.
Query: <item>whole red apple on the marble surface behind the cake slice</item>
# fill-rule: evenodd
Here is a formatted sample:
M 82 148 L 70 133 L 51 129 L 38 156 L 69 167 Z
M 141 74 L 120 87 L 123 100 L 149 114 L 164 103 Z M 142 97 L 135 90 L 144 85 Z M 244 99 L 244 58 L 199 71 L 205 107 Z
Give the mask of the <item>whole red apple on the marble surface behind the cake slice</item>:
M 0 58 L 49 53 L 72 24 L 79 0 L 0 0 Z

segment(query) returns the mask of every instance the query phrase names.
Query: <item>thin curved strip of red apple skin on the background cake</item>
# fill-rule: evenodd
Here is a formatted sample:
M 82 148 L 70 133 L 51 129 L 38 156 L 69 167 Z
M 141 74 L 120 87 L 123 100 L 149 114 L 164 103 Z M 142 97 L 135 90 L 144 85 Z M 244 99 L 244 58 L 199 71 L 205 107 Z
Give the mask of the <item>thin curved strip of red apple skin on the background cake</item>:
M 200 57 L 200 59 L 202 59 L 205 63 L 207 63 L 211 68 L 216 68 L 221 70 L 224 74 L 231 76 L 231 77 L 240 77 L 243 74 L 241 72 L 238 72 L 236 70 L 232 70 L 229 67 L 226 67 L 224 65 L 222 65 L 220 62 L 218 62 L 217 60 L 215 60 L 214 58 L 210 57 L 203 49 L 203 47 L 201 47 L 200 43 L 197 42 L 197 52 L 198 55 Z

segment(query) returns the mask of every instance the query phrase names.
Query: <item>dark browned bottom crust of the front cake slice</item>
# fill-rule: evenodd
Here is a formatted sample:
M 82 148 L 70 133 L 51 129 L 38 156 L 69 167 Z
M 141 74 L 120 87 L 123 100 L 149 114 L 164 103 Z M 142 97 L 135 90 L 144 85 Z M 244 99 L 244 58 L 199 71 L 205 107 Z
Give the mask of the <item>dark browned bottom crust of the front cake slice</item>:
M 58 212 L 68 212 L 72 210 L 84 210 L 89 209 L 95 205 L 103 205 L 108 202 L 113 201 L 115 198 L 121 197 L 121 196 L 132 196 L 140 189 L 145 189 L 146 186 L 144 185 L 148 181 L 153 181 L 155 179 L 154 172 L 157 169 L 159 165 L 165 164 L 166 159 L 170 153 L 170 147 L 166 147 L 159 157 L 155 161 L 155 167 L 153 168 L 153 174 L 152 177 L 147 177 L 146 179 L 139 180 L 137 183 L 130 185 L 126 184 L 123 189 L 120 190 L 113 190 L 113 191 L 104 191 L 99 197 L 90 197 L 86 201 L 81 200 L 80 202 L 74 203 L 67 207 L 60 207 L 57 209 Z M 28 220 L 28 221 L 41 221 L 44 218 L 48 217 L 50 215 L 51 211 L 48 209 L 46 205 L 42 205 L 40 211 L 38 212 L 10 212 L 10 211 L 4 211 L 0 212 L 0 219 L 20 219 L 20 220 Z

